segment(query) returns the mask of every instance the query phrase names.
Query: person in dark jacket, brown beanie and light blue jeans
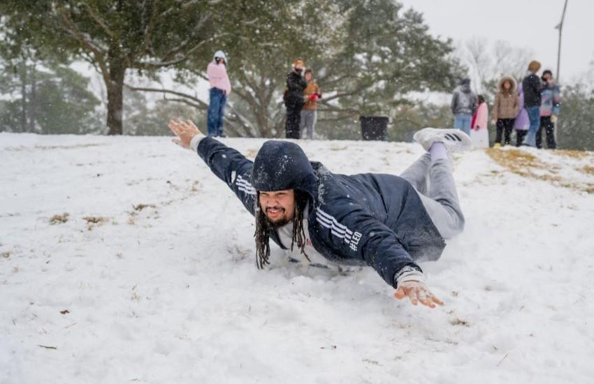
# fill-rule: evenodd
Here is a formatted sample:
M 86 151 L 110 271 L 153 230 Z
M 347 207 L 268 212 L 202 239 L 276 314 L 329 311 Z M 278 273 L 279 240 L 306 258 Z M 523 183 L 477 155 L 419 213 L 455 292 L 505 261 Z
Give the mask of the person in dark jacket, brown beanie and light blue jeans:
M 530 128 L 528 128 L 528 133 L 526 133 L 522 145 L 527 145 L 528 147 L 536 146 L 536 131 L 540 126 L 540 92 L 543 89 L 543 84 L 536 74 L 539 69 L 540 63 L 538 61 L 530 61 L 528 72 L 522 81 L 524 108 L 526 108 L 528 119 L 530 119 Z

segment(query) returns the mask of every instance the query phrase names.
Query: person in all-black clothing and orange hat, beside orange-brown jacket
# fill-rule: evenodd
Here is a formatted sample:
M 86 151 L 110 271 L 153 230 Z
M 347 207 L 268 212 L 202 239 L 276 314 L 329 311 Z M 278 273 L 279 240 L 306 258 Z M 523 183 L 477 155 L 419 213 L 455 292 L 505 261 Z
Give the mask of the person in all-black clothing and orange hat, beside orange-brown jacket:
M 287 90 L 284 91 L 284 106 L 287 107 L 287 122 L 285 125 L 287 139 L 301 137 L 301 109 L 305 105 L 303 91 L 307 88 L 307 81 L 303 77 L 303 60 L 293 62 L 293 71 L 287 75 Z

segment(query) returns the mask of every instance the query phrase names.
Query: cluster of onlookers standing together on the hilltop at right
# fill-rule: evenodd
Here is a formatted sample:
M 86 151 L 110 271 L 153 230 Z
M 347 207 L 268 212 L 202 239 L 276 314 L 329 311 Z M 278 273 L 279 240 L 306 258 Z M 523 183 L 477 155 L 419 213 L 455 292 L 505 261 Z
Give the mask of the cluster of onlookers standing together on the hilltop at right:
M 556 149 L 555 125 L 560 111 L 561 94 L 553 73 L 540 70 L 538 61 L 530 61 L 520 84 L 512 76 L 503 76 L 493 103 L 493 123 L 497 129 L 495 147 L 509 145 L 516 131 L 516 146 Z M 470 79 L 463 79 L 451 98 L 454 128 L 464 131 L 477 147 L 488 147 L 488 107 L 482 95 L 470 89 Z

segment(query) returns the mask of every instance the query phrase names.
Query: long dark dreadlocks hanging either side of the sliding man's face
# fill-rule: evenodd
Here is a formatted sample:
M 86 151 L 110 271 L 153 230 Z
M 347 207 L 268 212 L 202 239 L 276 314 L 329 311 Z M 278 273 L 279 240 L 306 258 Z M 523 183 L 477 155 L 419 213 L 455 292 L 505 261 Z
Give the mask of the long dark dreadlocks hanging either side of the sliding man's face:
M 303 191 L 295 190 L 295 214 L 291 222 L 293 223 L 293 239 L 291 239 L 291 251 L 294 249 L 295 242 L 301 253 L 310 260 L 305 253 L 305 230 L 303 229 L 303 212 L 307 205 L 308 196 Z M 266 213 L 260 207 L 260 193 L 256 194 L 256 267 L 262 269 L 264 265 L 270 264 L 270 230 L 274 230 L 273 225 L 266 218 Z

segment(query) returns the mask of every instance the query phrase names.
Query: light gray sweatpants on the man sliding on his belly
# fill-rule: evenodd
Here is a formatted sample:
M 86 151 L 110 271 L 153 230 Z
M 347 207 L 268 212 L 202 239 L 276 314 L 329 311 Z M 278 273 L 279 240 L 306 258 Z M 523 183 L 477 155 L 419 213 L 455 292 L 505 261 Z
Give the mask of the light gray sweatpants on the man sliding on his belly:
M 423 206 L 442 237 L 450 239 L 464 230 L 464 215 L 449 159 L 432 162 L 431 155 L 426 153 L 400 177 L 410 182 L 419 193 Z

